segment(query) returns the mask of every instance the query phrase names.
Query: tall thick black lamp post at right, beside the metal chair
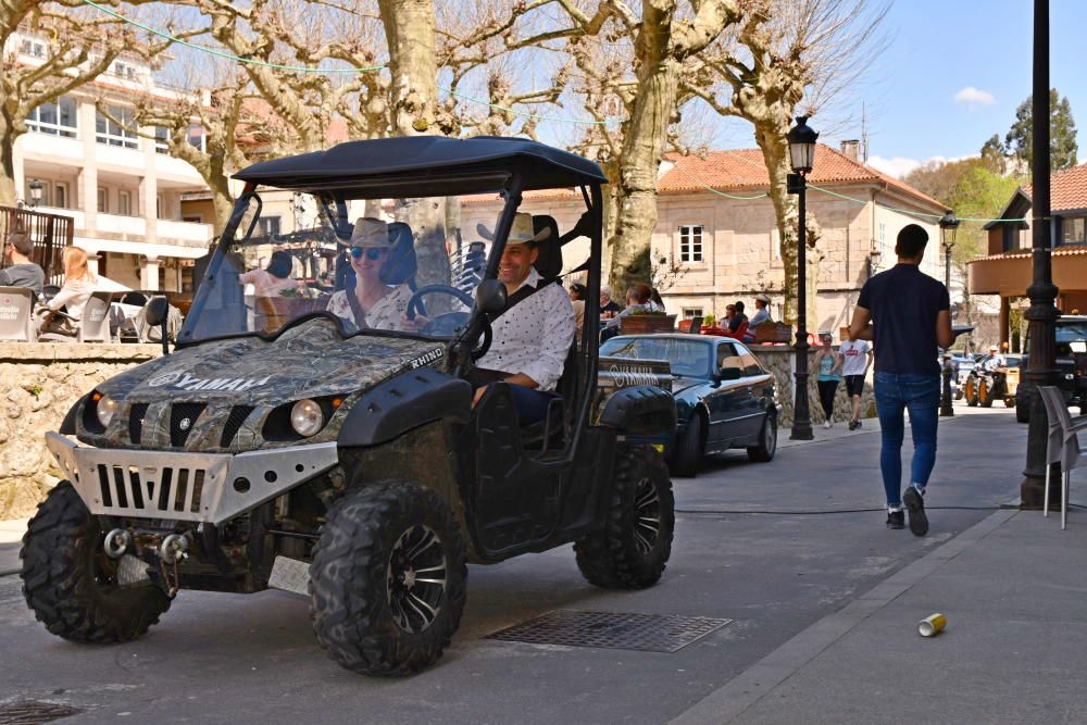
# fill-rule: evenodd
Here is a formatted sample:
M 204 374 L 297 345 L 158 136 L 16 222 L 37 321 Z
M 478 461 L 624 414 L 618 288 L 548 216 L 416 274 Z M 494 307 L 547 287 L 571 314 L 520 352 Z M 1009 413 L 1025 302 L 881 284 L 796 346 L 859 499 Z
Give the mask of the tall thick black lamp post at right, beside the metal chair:
M 1026 392 L 1030 398 L 1030 428 L 1026 439 L 1026 468 L 1020 486 L 1020 508 L 1041 509 L 1046 479 L 1046 441 L 1048 421 L 1046 408 L 1038 395 L 1044 385 L 1055 385 L 1057 338 L 1055 322 L 1060 316 L 1054 304 L 1057 287 L 1053 285 L 1053 267 L 1050 258 L 1052 238 L 1049 198 L 1049 0 L 1034 2 L 1034 164 L 1030 173 L 1034 182 L 1030 233 L 1033 237 L 1034 278 L 1026 293 L 1030 298 L 1030 309 L 1024 315 L 1028 323 L 1030 339 L 1027 350 L 1027 367 L 1023 373 Z M 1059 480 L 1059 478 L 1058 478 Z M 1051 504 L 1060 507 L 1062 490 L 1057 486 Z

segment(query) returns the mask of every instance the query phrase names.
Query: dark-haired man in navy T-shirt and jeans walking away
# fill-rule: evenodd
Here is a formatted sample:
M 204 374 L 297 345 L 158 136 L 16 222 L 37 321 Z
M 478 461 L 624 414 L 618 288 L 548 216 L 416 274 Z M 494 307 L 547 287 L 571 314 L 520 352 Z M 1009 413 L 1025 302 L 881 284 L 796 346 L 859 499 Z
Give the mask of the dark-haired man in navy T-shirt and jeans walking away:
M 955 338 L 947 287 L 919 266 L 927 243 L 928 233 L 916 224 L 898 233 L 898 263 L 864 283 L 849 325 L 852 339 L 872 340 L 875 347 L 876 411 L 883 429 L 879 471 L 887 496 L 887 526 L 903 527 L 904 505 L 915 536 L 928 533 L 924 496 L 936 463 L 938 349 L 951 347 Z M 910 411 L 913 433 L 913 461 L 910 485 L 902 493 L 905 410 Z

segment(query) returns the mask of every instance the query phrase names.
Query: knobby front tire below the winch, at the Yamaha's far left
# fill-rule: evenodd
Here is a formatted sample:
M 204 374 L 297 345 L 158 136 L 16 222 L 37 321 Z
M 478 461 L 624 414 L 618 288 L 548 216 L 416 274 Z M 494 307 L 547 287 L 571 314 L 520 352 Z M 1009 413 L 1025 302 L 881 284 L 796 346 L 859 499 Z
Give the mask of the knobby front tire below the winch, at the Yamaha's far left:
M 170 609 L 150 580 L 121 586 L 103 532 L 72 484 L 57 484 L 23 536 L 23 596 L 58 637 L 102 645 L 136 639 Z

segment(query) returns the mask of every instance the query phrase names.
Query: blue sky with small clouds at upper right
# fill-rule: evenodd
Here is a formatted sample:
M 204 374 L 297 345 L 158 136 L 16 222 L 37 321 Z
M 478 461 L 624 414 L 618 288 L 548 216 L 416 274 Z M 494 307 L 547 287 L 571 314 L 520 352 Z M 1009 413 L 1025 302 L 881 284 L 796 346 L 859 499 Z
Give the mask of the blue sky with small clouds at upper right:
M 836 135 L 859 137 L 863 100 L 870 163 L 896 174 L 932 158 L 974 155 L 992 134 L 1003 137 L 1030 93 L 1033 7 L 1030 0 L 897 0 L 871 85 L 849 101 L 857 123 Z M 1079 157 L 1087 160 L 1087 2 L 1051 0 L 1050 22 L 1050 82 L 1072 104 Z

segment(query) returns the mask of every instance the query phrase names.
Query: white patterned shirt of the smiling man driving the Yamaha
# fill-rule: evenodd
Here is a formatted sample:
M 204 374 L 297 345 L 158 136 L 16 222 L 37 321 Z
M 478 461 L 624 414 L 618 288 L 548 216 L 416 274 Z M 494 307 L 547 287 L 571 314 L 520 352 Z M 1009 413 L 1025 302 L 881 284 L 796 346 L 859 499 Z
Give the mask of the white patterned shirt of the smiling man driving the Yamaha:
M 535 287 L 540 280 L 533 267 L 521 287 Z M 540 390 L 554 390 L 574 340 L 574 308 L 566 290 L 552 282 L 507 310 L 491 327 L 490 349 L 479 359 L 479 367 L 522 373 Z

